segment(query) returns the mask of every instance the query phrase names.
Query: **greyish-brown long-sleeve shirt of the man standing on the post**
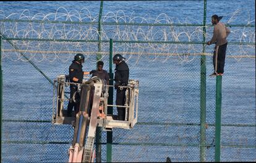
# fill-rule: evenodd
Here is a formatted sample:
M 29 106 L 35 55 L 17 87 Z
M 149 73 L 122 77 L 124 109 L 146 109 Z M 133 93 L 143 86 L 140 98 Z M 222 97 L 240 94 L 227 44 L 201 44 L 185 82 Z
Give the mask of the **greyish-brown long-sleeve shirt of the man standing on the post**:
M 210 44 L 216 43 L 216 46 L 220 46 L 228 43 L 226 38 L 230 33 L 229 28 L 227 28 L 224 23 L 218 22 L 214 26 L 213 37 L 211 38 Z

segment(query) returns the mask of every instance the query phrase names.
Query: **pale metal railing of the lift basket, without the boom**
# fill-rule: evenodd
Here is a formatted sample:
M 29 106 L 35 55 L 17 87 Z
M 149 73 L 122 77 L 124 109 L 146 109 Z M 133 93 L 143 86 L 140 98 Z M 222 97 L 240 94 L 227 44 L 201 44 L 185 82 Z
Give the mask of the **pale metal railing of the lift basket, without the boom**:
M 88 81 L 88 80 L 86 80 Z M 133 128 L 137 123 L 138 104 L 139 104 L 139 81 L 129 80 L 127 86 L 119 86 L 120 89 L 126 89 L 126 102 L 124 106 L 110 105 L 108 104 L 108 90 L 113 85 L 102 84 L 100 106 L 98 109 L 97 125 L 103 127 L 103 130 L 112 130 L 112 128 Z M 54 80 L 53 86 L 53 117 L 52 122 L 54 124 L 75 124 L 75 112 L 72 111 L 72 117 L 67 117 L 67 103 L 69 101 L 76 102 L 75 94 L 73 97 L 69 97 L 69 86 L 77 85 L 77 93 L 81 93 L 82 85 L 80 83 L 69 82 L 67 75 L 59 75 Z M 88 91 L 88 90 L 87 90 Z M 85 99 L 80 99 L 83 102 Z M 91 99 L 90 99 L 91 100 Z M 108 106 L 111 107 L 124 107 L 126 109 L 125 120 L 118 120 L 117 115 L 108 114 Z

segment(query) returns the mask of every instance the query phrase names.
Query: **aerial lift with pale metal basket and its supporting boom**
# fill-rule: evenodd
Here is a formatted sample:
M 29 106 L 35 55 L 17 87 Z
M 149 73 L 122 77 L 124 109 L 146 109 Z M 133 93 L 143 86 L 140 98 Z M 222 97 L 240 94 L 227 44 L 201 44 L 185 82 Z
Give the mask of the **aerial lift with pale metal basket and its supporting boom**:
M 137 123 L 139 81 L 129 80 L 127 86 L 119 86 L 126 89 L 126 102 L 124 106 L 108 104 L 108 90 L 113 85 L 106 85 L 98 77 L 92 77 L 80 83 L 69 82 L 67 75 L 59 75 L 54 80 L 53 117 L 56 125 L 73 125 L 74 138 L 69 148 L 69 162 L 93 162 L 93 143 L 96 127 L 102 127 L 105 131 L 113 128 L 131 129 Z M 69 98 L 69 86 L 77 85 L 78 91 Z M 79 112 L 72 111 L 72 117 L 67 117 L 69 100 L 78 102 L 75 98 L 79 94 Z M 108 114 L 108 107 L 124 107 L 126 109 L 125 120 L 117 120 L 116 115 Z

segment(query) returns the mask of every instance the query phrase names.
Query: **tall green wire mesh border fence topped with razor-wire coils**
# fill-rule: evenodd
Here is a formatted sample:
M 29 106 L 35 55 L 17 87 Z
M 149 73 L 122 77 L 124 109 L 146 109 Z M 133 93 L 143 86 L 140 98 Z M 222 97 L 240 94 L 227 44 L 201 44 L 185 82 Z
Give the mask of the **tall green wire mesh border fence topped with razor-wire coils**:
M 68 160 L 74 129 L 51 123 L 53 80 L 77 52 L 83 69 L 101 60 L 109 72 L 109 56 L 122 54 L 140 81 L 137 124 L 97 128 L 96 162 L 256 161 L 255 24 L 227 24 L 226 72 L 210 78 L 213 28 L 202 3 L 202 24 L 104 22 L 103 1 L 97 21 L 1 19 L 1 161 Z

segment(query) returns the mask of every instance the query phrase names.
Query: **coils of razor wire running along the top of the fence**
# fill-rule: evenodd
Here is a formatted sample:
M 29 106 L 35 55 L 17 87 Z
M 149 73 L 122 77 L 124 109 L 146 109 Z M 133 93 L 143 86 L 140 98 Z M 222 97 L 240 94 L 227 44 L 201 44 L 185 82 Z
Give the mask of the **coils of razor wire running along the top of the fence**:
M 245 9 L 237 9 L 233 13 L 225 15 L 229 17 L 228 24 L 233 23 L 244 12 Z M 249 13 L 249 12 L 248 12 Z M 102 32 L 98 31 L 98 15 L 92 16 L 90 10 L 67 10 L 59 7 L 56 12 L 48 14 L 37 13 L 31 15 L 29 10 L 23 10 L 21 14 L 12 13 L 5 15 L 0 10 L 1 33 L 8 38 L 38 38 L 38 39 L 62 39 L 62 40 L 125 40 L 125 41 L 201 41 L 203 40 L 203 27 L 183 27 L 171 26 L 174 20 L 180 24 L 190 24 L 190 21 L 197 21 L 190 17 L 184 23 L 177 18 L 171 18 L 167 14 L 157 15 L 155 18 L 150 16 L 139 17 L 134 12 L 126 15 L 123 10 L 108 12 L 102 17 Z M 19 20 L 41 20 L 45 22 L 22 22 Z M 62 21 L 49 22 L 49 21 Z M 72 23 L 71 23 L 72 22 Z M 116 25 L 104 25 L 104 23 L 116 23 Z M 120 23 L 120 25 L 118 24 Z M 127 25 L 126 23 L 163 23 L 167 26 L 154 25 Z M 200 22 L 198 22 L 200 24 Z M 247 16 L 247 25 L 255 23 L 251 20 L 250 14 Z M 206 27 L 206 39 L 210 40 L 213 35 L 213 27 Z M 100 35 L 99 35 L 100 33 Z M 255 43 L 255 27 L 232 27 L 229 41 L 241 43 Z M 12 44 L 19 47 L 15 49 L 10 46 L 8 41 L 3 41 L 3 59 L 12 61 L 27 61 L 23 59 L 23 54 L 29 60 L 36 62 L 53 62 L 59 59 L 62 62 L 70 61 L 74 52 L 81 52 L 87 56 L 98 53 L 98 43 L 85 42 L 57 42 L 57 41 L 19 41 L 12 40 Z M 198 54 L 210 54 L 213 51 L 208 46 L 206 52 L 202 52 L 202 44 L 185 43 L 114 43 L 114 52 L 119 52 L 126 56 L 127 60 L 137 57 L 137 62 L 141 56 L 147 54 L 148 59 L 156 61 L 160 56 L 166 56 L 164 61 L 176 56 L 182 62 L 193 61 Z M 101 57 L 108 55 L 105 51 L 109 50 L 109 43 L 101 43 Z M 243 57 L 255 59 L 255 44 L 229 45 L 227 56 L 234 57 L 239 61 Z M 69 53 L 69 55 L 67 55 Z M 134 55 L 137 54 L 137 55 Z M 235 55 L 234 55 L 235 54 Z M 14 57 L 15 56 L 15 57 Z M 243 56 L 243 57 L 241 57 Z M 164 62 L 163 61 L 163 62 Z M 96 62 L 92 61 L 92 62 Z

